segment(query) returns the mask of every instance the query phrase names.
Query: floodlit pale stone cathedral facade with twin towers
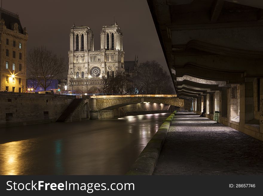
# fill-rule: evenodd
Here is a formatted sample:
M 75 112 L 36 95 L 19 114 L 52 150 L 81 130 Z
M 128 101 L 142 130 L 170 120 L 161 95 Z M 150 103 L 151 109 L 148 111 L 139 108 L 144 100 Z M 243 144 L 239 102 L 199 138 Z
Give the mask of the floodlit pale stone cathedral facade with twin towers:
M 68 58 L 68 90 L 100 93 L 104 78 L 124 72 L 123 35 L 117 22 L 103 26 L 100 50 L 94 50 L 94 35 L 89 27 L 73 25 Z

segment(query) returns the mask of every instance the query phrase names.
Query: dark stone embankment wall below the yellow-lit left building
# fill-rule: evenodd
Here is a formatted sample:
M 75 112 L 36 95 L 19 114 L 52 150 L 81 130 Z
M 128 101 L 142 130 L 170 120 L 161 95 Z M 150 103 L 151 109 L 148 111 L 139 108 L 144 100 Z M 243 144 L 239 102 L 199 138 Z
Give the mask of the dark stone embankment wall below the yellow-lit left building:
M 0 127 L 55 122 L 75 96 L 0 92 Z

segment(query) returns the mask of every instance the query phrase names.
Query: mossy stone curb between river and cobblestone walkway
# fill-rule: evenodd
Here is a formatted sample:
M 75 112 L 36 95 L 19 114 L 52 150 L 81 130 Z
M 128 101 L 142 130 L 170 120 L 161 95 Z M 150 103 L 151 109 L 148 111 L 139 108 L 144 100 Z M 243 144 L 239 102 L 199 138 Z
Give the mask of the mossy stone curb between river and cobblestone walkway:
M 176 112 L 173 113 L 172 118 L 174 117 L 175 113 Z M 163 122 L 158 131 L 140 153 L 137 160 L 133 163 L 132 167 L 126 173 L 126 175 L 152 175 L 158 162 L 158 158 L 163 143 L 166 139 L 169 127 L 170 122 Z

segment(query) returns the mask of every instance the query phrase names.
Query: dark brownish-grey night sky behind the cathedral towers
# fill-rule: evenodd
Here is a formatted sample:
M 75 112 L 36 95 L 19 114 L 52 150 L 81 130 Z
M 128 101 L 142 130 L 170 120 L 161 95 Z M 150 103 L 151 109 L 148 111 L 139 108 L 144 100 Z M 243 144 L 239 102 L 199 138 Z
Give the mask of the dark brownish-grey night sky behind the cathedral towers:
M 132 61 L 136 54 L 139 63 L 156 60 L 168 70 L 146 0 L 3 0 L 2 7 L 18 13 L 22 27 L 27 28 L 27 51 L 45 45 L 67 62 L 73 23 L 90 27 L 94 50 L 100 50 L 100 30 L 114 24 L 115 17 L 123 32 L 124 60 Z

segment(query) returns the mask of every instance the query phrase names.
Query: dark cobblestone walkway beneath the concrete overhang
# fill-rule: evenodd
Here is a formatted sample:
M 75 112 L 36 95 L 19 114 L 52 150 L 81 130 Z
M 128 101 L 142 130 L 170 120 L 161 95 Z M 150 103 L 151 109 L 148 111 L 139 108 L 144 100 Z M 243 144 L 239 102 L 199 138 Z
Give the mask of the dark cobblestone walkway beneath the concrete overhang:
M 263 141 L 193 112 L 178 112 L 154 175 L 262 175 Z

